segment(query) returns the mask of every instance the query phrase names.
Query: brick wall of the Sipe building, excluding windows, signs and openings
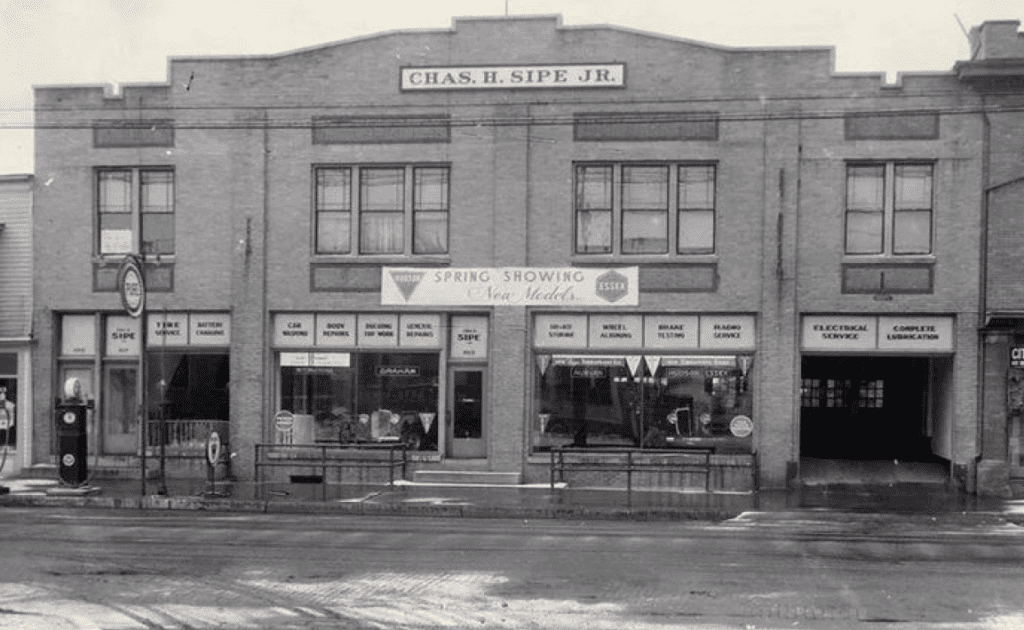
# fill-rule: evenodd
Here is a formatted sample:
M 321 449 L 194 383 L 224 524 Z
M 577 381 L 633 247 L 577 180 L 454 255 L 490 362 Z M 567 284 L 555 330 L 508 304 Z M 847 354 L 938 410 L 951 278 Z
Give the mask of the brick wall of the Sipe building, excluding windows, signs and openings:
M 399 89 L 407 66 L 607 62 L 625 65 L 623 87 Z M 753 316 L 753 444 L 763 488 L 785 487 L 799 473 L 804 316 L 951 318 L 954 350 L 941 358 L 954 383 L 943 451 L 968 471 L 970 487 L 979 447 L 980 102 L 952 73 L 909 75 L 893 86 L 881 74 L 836 74 L 830 49 L 730 49 L 626 29 L 565 28 L 556 17 L 460 19 L 449 31 L 388 33 L 272 56 L 174 58 L 167 85 L 125 86 L 118 95 L 37 88 L 37 176 L 48 183 L 35 202 L 34 236 L 47 246 L 36 250 L 33 458 L 52 458 L 48 410 L 58 379 L 59 317 L 120 311 L 117 293 L 94 291 L 95 169 L 153 165 L 175 172 L 175 253 L 173 292 L 153 294 L 150 308 L 230 312 L 231 449 L 241 478 L 253 474 L 253 446 L 272 438 L 275 313 L 394 309 L 365 287 L 315 290 L 316 269 L 348 279 L 364 274 L 372 283 L 382 265 L 636 264 L 641 285 L 647 283 L 639 306 L 606 310 Z M 717 117 L 717 139 L 573 140 L 581 113 L 709 112 Z M 847 139 L 845 116 L 872 112 L 934 112 L 938 136 Z M 311 139 L 318 116 L 419 115 L 451 117 L 451 140 Z M 97 121 L 139 119 L 173 121 L 174 145 L 93 145 Z M 931 253 L 869 261 L 927 267 L 928 291 L 843 291 L 844 265 L 861 261 L 843 253 L 846 168 L 864 161 L 934 165 Z M 715 164 L 715 252 L 573 254 L 573 164 L 583 162 Z M 451 166 L 447 254 L 313 253 L 315 166 L 438 163 Z M 53 251 L 62 255 L 44 253 Z M 353 270 L 360 265 L 369 270 Z M 712 286 L 672 284 L 709 268 Z M 528 426 L 536 413 L 532 319 L 546 310 L 427 310 L 488 313 L 484 466 L 543 478 L 543 458 L 529 454 Z M 94 365 L 98 375 L 102 361 Z M 422 465 L 444 464 L 437 461 L 445 459 L 441 451 Z

